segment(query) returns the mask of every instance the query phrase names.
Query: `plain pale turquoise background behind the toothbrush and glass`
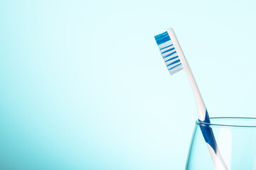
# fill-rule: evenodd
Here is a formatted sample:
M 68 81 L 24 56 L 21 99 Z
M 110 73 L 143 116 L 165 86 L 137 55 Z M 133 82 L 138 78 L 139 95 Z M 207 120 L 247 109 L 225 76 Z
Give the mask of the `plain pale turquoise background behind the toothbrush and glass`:
M 255 117 L 253 1 L 0 1 L 0 169 L 184 169 L 197 118 Z

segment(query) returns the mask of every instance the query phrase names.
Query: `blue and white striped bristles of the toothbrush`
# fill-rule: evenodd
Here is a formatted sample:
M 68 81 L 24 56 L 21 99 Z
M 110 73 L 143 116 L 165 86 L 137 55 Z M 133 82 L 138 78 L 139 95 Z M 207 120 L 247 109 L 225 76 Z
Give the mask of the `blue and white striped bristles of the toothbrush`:
M 174 44 L 167 31 L 156 35 L 154 38 L 156 39 L 156 43 L 159 46 L 159 50 L 170 74 L 172 75 L 181 71 L 183 69 L 181 60 L 178 58 Z

